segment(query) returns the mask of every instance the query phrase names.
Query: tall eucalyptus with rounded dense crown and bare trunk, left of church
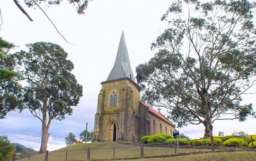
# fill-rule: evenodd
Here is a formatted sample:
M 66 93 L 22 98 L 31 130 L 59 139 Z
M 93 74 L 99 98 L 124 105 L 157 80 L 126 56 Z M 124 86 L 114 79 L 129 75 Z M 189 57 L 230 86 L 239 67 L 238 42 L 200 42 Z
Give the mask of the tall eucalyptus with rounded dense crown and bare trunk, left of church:
M 48 131 L 53 119 L 72 115 L 82 97 L 82 86 L 71 73 L 73 63 L 57 44 L 37 42 L 28 44 L 29 52 L 16 53 L 20 71 L 27 80 L 24 87 L 24 107 L 42 122 L 40 152 L 47 150 Z

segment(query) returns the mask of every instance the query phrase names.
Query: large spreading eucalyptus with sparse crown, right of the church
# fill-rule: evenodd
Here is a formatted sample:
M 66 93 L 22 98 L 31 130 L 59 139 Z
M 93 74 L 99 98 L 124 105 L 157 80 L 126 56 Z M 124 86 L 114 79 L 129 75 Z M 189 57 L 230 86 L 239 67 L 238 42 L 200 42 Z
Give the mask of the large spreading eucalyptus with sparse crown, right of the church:
M 252 104 L 241 95 L 255 83 L 255 3 L 175 1 L 163 15 L 170 28 L 158 36 L 154 58 L 136 68 L 143 100 L 169 109 L 178 127 L 246 120 Z

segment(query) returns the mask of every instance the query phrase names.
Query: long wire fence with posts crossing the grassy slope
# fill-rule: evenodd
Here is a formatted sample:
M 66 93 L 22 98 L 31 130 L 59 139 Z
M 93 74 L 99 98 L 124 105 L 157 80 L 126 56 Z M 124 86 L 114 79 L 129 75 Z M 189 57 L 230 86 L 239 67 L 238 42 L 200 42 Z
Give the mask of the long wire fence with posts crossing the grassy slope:
M 232 136 L 234 137 L 234 136 Z M 248 136 L 240 136 L 248 137 Z M 229 137 L 225 137 L 229 138 Z M 252 136 L 248 137 L 253 146 Z M 12 159 L 9 160 L 21 160 L 21 161 L 68 161 L 68 160 L 101 160 L 101 159 L 127 159 L 127 158 L 142 158 L 142 157 L 154 157 L 154 156 L 172 156 L 176 154 L 191 154 L 202 153 L 213 150 L 211 146 L 197 146 L 197 143 L 206 139 L 188 140 L 193 141 L 195 145 L 188 145 L 188 141 L 179 141 L 171 143 L 160 144 L 140 144 L 140 145 L 122 145 L 119 147 L 106 147 L 106 148 L 85 148 L 74 150 L 56 150 L 46 151 L 45 153 L 29 153 L 29 154 L 14 154 L 13 156 L 6 156 Z M 209 140 L 209 139 L 207 139 Z M 209 144 L 208 144 L 209 145 Z M 179 147 L 179 148 L 178 148 Z M 223 147 L 214 146 L 214 149 L 223 149 L 230 151 L 236 150 L 236 147 Z

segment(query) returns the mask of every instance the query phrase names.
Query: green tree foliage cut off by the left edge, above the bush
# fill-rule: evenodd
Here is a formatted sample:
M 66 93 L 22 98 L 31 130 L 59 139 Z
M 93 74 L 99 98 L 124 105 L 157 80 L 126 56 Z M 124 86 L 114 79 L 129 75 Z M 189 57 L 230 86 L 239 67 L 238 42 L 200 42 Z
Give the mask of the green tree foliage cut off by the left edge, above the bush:
M 5 118 L 7 112 L 16 108 L 22 109 L 21 86 L 17 82 L 20 74 L 14 72 L 15 59 L 8 52 L 14 44 L 0 37 L 0 119 Z

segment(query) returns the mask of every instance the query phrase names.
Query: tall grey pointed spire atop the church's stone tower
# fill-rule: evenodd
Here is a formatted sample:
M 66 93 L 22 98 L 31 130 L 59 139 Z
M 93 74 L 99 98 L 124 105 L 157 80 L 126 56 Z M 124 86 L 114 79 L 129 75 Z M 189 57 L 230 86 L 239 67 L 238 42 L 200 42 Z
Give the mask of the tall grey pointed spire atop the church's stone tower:
M 129 78 L 135 82 L 134 74 L 130 67 L 130 61 L 125 42 L 125 34 L 123 32 L 117 51 L 116 61 L 114 62 L 114 67 L 111 70 L 107 81 L 121 78 Z

